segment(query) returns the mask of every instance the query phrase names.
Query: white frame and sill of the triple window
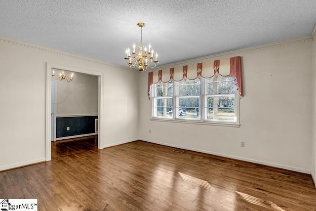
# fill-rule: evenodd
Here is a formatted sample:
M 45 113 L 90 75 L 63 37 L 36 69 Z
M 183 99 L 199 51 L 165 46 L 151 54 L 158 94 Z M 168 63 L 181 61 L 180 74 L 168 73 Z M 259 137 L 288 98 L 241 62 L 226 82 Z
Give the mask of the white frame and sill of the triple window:
M 189 80 L 189 79 L 187 79 Z M 155 91 L 156 91 L 156 84 L 152 85 L 152 118 L 151 120 L 153 121 L 166 121 L 166 122 L 178 122 L 178 123 L 188 123 L 188 124 L 201 124 L 201 125 L 216 125 L 216 126 L 231 126 L 231 127 L 239 127 L 239 92 L 238 90 L 235 91 L 235 94 L 205 94 L 206 93 L 206 79 L 200 78 L 200 95 L 199 95 L 199 119 L 182 119 L 178 118 L 179 116 L 179 98 L 181 97 L 196 97 L 197 95 L 190 95 L 190 96 L 179 96 L 178 95 L 178 82 L 173 82 L 173 96 L 169 97 L 156 97 L 155 96 Z M 235 86 L 235 88 L 237 88 Z M 235 95 L 235 119 L 236 122 L 231 122 L 231 121 L 218 121 L 218 120 L 208 120 L 206 115 L 207 115 L 207 97 L 210 96 L 233 96 Z M 155 99 L 159 98 L 172 98 L 172 116 L 170 117 L 158 117 L 157 116 L 157 111 L 155 111 L 155 104 L 157 101 Z M 157 107 L 157 106 L 156 106 Z M 155 113 L 156 112 L 156 113 Z

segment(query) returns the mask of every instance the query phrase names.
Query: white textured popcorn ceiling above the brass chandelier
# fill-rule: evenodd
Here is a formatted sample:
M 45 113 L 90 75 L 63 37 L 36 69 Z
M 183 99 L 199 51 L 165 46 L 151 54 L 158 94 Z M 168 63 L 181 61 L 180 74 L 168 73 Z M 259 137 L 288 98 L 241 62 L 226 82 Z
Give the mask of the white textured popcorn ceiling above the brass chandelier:
M 0 1 L 0 36 L 122 66 L 138 22 L 162 65 L 309 36 L 316 0 Z

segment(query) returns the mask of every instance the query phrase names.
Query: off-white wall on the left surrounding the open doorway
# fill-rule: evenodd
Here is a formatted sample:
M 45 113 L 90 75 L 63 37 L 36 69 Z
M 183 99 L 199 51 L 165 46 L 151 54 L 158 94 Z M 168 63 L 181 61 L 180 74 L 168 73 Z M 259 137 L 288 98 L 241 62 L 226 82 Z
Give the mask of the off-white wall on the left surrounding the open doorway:
M 0 37 L 0 170 L 45 161 L 46 62 L 103 72 L 104 146 L 138 138 L 138 72 Z

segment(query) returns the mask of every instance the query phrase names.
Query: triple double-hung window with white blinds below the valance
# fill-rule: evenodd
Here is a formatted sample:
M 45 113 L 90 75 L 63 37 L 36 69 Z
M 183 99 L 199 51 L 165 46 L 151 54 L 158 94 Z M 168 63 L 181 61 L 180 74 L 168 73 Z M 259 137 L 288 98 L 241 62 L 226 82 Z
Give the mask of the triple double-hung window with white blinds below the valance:
M 234 79 L 218 76 L 153 84 L 153 118 L 238 124 Z

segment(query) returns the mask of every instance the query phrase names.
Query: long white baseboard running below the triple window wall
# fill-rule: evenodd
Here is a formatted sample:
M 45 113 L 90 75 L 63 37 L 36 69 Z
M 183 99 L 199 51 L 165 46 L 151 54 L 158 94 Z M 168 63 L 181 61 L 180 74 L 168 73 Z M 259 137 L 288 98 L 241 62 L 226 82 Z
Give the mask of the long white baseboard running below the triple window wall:
M 147 141 L 147 142 L 151 142 L 151 143 L 155 143 L 155 144 L 160 144 L 160 145 L 164 145 L 164 146 L 169 146 L 169 147 L 175 147 L 175 148 L 180 148 L 180 149 L 192 150 L 192 151 L 195 151 L 195 152 L 202 152 L 202 153 L 206 153 L 206 154 L 210 154 L 210 155 L 217 155 L 217 156 L 221 156 L 221 157 L 225 157 L 225 158 L 232 158 L 232 159 L 236 159 L 236 160 L 240 160 L 240 161 L 247 161 L 247 162 L 251 162 L 251 163 L 255 163 L 255 164 L 262 164 L 262 165 L 266 165 L 266 166 L 270 166 L 270 167 L 276 167 L 276 168 L 280 168 L 280 169 L 287 169 L 287 170 L 293 170 L 293 171 L 298 171 L 298 172 L 302 172 L 302 173 L 311 174 L 311 170 L 307 170 L 307 169 L 298 169 L 298 168 L 284 166 L 284 165 L 279 165 L 279 164 L 275 164 L 275 163 L 269 163 L 269 162 L 264 162 L 264 161 L 258 161 L 258 160 L 242 158 L 242 157 L 238 157 L 238 156 L 232 156 L 232 155 L 217 153 L 217 152 L 200 150 L 200 149 L 191 148 L 191 147 L 185 147 L 185 146 L 181 146 L 181 145 L 163 143 L 163 142 L 153 141 L 153 140 L 144 139 L 144 138 L 140 138 L 139 140 Z

